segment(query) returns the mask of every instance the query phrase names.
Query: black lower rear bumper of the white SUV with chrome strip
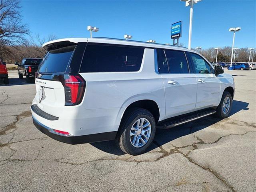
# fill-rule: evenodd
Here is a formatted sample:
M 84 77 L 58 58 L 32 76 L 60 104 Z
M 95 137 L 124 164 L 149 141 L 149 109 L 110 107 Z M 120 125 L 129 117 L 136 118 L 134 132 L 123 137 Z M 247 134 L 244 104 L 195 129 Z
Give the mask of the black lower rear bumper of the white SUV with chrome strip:
M 52 128 L 44 126 L 38 120 L 36 120 L 33 116 L 33 123 L 42 133 L 48 135 L 50 138 L 53 138 L 57 141 L 68 143 L 68 144 L 82 144 L 82 143 L 93 143 L 100 141 L 108 141 L 114 140 L 116 137 L 117 131 L 98 133 L 98 134 L 90 134 L 90 135 L 81 135 L 81 136 L 72 136 L 72 135 L 62 135 L 58 133 L 54 133 Z

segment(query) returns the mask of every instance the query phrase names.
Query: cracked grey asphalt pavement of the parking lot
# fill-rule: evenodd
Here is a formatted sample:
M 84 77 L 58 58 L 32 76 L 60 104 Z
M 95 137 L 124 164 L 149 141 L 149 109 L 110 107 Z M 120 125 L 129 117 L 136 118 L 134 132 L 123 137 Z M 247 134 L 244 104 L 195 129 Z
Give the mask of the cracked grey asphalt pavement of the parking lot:
M 0 191 L 256 191 L 256 70 L 227 71 L 231 116 L 158 130 L 148 152 L 113 141 L 70 145 L 42 134 L 30 105 L 35 85 L 9 72 L 0 87 Z

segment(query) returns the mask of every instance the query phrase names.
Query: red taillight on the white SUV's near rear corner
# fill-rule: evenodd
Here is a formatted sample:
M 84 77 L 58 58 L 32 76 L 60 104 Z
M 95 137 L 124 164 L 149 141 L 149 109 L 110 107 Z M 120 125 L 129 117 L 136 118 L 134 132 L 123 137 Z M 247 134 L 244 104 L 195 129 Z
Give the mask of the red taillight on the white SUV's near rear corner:
M 65 105 L 78 105 L 82 102 L 86 82 L 79 75 L 64 74 L 62 82 L 65 90 Z

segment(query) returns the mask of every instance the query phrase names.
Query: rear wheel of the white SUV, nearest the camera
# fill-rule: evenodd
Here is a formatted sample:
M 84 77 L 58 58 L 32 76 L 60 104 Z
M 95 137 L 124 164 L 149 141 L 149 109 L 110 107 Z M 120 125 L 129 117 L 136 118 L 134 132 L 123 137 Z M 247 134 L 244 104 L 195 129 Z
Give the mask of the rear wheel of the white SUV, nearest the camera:
M 156 122 L 146 109 L 132 108 L 125 113 L 118 133 L 116 145 L 130 155 L 139 155 L 146 151 L 154 140 Z

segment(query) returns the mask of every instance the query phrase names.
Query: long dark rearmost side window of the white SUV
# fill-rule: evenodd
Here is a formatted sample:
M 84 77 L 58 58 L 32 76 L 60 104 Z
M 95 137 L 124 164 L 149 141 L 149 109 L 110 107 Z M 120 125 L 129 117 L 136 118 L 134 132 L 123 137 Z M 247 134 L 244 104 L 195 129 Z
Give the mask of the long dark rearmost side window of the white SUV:
M 80 72 L 127 72 L 140 70 L 144 48 L 86 46 Z

